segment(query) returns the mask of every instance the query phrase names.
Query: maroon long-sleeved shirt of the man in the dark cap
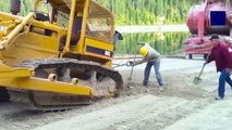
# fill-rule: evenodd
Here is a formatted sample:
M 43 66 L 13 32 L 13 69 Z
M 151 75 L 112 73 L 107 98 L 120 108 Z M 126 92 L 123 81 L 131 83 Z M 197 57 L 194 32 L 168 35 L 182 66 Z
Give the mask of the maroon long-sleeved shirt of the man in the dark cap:
M 213 47 L 207 63 L 210 63 L 211 61 L 216 62 L 217 72 L 232 68 L 232 55 L 229 52 L 228 46 L 219 43 L 217 47 Z

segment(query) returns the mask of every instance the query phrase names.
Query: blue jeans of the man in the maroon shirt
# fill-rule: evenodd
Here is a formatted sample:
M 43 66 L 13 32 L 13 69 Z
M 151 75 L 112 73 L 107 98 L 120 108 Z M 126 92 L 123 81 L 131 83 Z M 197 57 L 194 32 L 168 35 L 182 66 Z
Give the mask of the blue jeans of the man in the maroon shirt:
M 219 76 L 219 86 L 218 86 L 218 95 L 222 99 L 224 98 L 225 81 L 232 87 L 230 74 L 227 72 L 227 69 L 223 69 L 221 70 L 221 74 Z

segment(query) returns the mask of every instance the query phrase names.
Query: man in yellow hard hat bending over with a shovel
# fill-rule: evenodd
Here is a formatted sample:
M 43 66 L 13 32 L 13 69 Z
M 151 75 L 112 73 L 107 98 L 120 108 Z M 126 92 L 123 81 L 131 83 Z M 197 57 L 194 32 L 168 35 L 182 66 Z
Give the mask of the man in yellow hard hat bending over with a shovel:
M 159 72 L 160 61 L 161 61 L 160 53 L 157 52 L 154 48 L 151 48 L 149 46 L 149 43 L 144 43 L 144 46 L 139 50 L 139 53 L 144 56 L 143 60 L 135 61 L 135 62 L 129 61 L 127 66 L 135 66 L 135 65 L 147 62 L 145 70 L 144 70 L 144 80 L 143 80 L 143 84 L 145 87 L 148 86 L 148 80 L 149 80 L 149 76 L 150 76 L 150 68 L 154 66 L 156 78 L 157 78 L 157 81 L 159 83 L 159 91 L 163 92 L 164 91 L 164 88 L 163 88 L 164 83 L 163 83 L 163 79 L 161 77 L 161 74 Z

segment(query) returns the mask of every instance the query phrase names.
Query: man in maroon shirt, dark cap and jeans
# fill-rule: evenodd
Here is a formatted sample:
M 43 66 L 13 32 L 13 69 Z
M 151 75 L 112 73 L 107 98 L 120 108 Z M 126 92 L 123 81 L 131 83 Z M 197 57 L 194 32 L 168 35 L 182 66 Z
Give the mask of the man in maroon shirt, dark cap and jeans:
M 217 73 L 220 72 L 221 74 L 219 76 L 218 96 L 215 100 L 223 100 L 225 81 L 232 87 L 230 78 L 232 55 L 229 52 L 228 46 L 220 41 L 218 35 L 212 35 L 210 40 L 212 43 L 211 53 L 204 64 L 206 65 L 212 61 L 216 62 Z

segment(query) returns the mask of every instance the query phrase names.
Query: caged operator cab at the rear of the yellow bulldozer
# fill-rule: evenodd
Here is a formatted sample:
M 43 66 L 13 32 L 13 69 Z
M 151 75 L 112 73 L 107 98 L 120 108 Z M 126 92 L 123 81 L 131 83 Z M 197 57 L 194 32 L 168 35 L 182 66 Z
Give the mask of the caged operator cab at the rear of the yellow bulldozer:
M 114 22 L 111 12 L 91 0 L 47 2 L 52 6 L 50 22 L 68 28 L 61 37 L 60 51 L 100 58 L 112 57 Z

